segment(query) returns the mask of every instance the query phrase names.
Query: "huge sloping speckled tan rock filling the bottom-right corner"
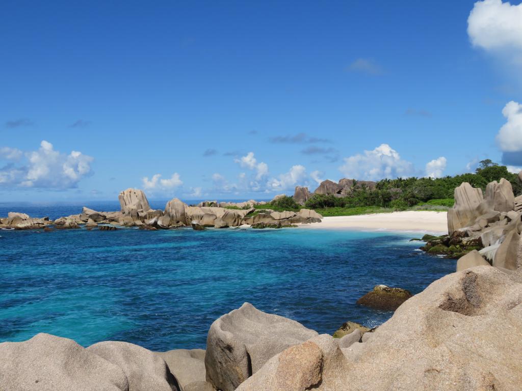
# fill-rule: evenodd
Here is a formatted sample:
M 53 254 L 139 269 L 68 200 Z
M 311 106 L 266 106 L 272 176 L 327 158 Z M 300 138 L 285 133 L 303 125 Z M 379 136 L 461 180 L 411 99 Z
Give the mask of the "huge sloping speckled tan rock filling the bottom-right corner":
M 490 266 L 449 274 L 402 304 L 366 342 L 342 349 L 348 363 L 321 337 L 309 341 L 321 353 L 306 344 L 287 349 L 238 391 L 517 391 L 522 276 Z

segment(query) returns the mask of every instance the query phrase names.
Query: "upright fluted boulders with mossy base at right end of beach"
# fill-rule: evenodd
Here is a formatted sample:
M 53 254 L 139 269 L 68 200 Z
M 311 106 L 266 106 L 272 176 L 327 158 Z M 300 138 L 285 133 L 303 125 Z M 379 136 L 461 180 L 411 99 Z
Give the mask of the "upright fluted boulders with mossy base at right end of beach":
M 522 196 L 514 196 L 509 181 L 491 182 L 485 194 L 465 182 L 455 189 L 448 235 L 423 238 L 428 240 L 423 249 L 458 259 L 457 271 L 480 265 L 517 270 L 522 267 L 517 256 L 521 231 Z

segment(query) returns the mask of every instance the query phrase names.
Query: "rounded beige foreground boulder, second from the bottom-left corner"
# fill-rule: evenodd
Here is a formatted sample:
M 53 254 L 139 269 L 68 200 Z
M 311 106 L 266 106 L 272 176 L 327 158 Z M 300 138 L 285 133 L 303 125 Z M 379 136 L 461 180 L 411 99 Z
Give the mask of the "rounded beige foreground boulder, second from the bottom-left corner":
M 180 391 L 165 360 L 141 346 L 103 341 L 86 350 L 119 366 L 127 376 L 129 391 Z

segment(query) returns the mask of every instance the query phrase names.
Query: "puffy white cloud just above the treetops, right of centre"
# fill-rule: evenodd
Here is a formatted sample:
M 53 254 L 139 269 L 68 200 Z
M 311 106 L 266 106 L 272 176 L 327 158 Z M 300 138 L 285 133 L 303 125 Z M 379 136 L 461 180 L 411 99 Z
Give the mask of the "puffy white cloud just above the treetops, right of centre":
M 381 144 L 373 151 L 364 151 L 345 157 L 339 171 L 346 178 L 379 180 L 383 178 L 408 177 L 414 174 L 413 164 L 402 160 L 399 153 L 388 144 Z

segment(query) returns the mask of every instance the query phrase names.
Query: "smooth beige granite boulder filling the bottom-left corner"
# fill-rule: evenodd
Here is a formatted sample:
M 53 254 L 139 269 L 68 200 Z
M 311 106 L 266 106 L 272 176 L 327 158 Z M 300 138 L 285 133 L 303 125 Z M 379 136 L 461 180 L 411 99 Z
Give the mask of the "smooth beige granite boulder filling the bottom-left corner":
M 127 391 L 127 376 L 72 339 L 37 334 L 0 344 L 2 391 Z

